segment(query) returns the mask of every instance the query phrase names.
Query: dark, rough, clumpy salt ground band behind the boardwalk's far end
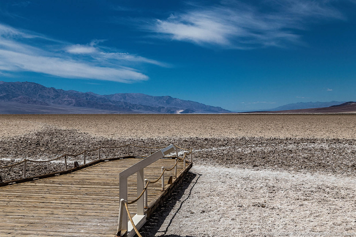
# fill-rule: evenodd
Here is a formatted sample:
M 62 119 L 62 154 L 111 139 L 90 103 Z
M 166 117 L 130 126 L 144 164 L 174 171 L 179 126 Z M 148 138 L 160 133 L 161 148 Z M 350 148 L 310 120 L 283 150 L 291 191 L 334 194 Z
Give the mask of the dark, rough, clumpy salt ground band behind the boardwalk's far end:
M 179 144 L 182 147 L 194 147 L 193 159 L 197 165 L 211 165 L 236 168 L 273 168 L 304 172 L 338 173 L 343 176 L 355 176 L 356 140 L 326 138 L 106 138 L 97 137 L 78 130 L 46 128 L 35 133 L 0 137 L 0 166 L 16 163 L 24 158 L 31 160 L 48 160 L 63 153 L 75 154 L 83 149 L 98 146 L 116 146 L 127 143 L 143 146 L 166 146 Z M 149 155 L 151 150 L 132 148 L 133 153 Z M 102 150 L 102 158 L 123 156 L 126 148 Z M 182 151 L 179 155 L 182 156 Z M 87 161 L 97 159 L 96 152 L 87 153 Z M 48 157 L 48 158 L 47 158 Z M 69 167 L 75 160 L 83 163 L 83 156 L 70 158 Z M 61 171 L 63 160 L 53 163 L 34 165 L 28 175 L 34 176 Z M 21 177 L 21 165 L 2 169 L 0 173 L 5 180 Z

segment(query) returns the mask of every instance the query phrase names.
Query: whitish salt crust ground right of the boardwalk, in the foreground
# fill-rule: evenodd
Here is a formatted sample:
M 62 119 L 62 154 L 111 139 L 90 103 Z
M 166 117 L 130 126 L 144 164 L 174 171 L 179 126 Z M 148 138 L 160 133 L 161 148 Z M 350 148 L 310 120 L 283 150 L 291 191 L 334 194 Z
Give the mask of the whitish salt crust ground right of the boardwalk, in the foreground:
M 194 175 L 141 231 L 145 236 L 263 236 L 355 232 L 355 180 L 273 170 L 193 166 Z M 189 196 L 189 198 L 188 198 Z M 162 218 L 163 217 L 163 218 Z

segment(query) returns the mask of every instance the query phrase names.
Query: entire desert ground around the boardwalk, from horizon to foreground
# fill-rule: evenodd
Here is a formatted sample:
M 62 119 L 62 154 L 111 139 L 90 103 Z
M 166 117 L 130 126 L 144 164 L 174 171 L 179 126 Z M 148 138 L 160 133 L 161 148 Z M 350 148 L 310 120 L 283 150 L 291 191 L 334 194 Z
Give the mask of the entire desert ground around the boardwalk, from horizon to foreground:
M 23 158 L 45 160 L 65 152 L 127 142 L 194 147 L 189 176 L 141 229 L 143 236 L 356 235 L 356 115 L 82 114 L 0 118 L 0 166 Z M 108 150 L 103 156 L 117 152 L 121 151 Z M 62 166 L 61 162 L 46 167 L 33 165 L 29 174 Z M 18 178 L 17 169 L 21 167 L 0 172 L 3 178 L 14 179 Z

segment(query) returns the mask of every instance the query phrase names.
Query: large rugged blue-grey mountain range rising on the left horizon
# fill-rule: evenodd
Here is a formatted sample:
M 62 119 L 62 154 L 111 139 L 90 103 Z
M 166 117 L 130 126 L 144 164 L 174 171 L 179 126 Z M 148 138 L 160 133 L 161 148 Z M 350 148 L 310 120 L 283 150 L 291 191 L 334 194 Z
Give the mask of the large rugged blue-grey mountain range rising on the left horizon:
M 0 113 L 9 111 L 9 102 L 17 104 L 36 105 L 31 108 L 33 113 L 50 113 L 50 107 L 53 113 L 59 111 L 66 112 L 65 108 L 89 108 L 91 111 L 105 110 L 106 112 L 123 113 L 177 113 L 179 111 L 188 113 L 221 113 L 230 112 L 220 107 L 207 106 L 194 101 L 184 101 L 170 96 L 148 96 L 139 93 L 121 93 L 114 95 L 98 95 L 93 92 L 79 92 L 68 90 L 64 91 L 53 87 L 45 87 L 33 82 L 4 82 L 0 81 L 0 102 L 6 102 L 0 108 Z M 40 106 L 40 107 L 39 107 Z M 45 106 L 45 107 L 41 107 Z M 1 107 L 1 104 L 0 104 Z M 25 107 L 16 106 L 26 112 Z M 17 113 L 14 109 L 11 113 Z M 71 109 L 71 111 L 74 111 Z M 87 111 L 81 110 L 78 111 Z M 100 112 L 100 111 L 99 111 Z M 99 113 L 98 112 L 98 113 Z M 9 112 L 10 113 L 10 112 Z

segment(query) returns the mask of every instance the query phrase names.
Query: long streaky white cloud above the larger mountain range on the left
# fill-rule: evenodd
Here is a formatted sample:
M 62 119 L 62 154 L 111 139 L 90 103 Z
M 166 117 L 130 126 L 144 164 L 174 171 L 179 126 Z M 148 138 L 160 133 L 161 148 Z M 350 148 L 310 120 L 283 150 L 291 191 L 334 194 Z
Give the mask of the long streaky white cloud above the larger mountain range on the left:
M 105 52 L 96 46 L 98 42 L 71 45 L 0 23 L 0 72 L 31 71 L 73 79 L 131 83 L 148 80 L 148 76 L 131 68 L 127 62 L 160 65 L 158 61 L 137 55 L 121 57 L 120 63 L 118 58 L 111 56 L 120 53 Z

